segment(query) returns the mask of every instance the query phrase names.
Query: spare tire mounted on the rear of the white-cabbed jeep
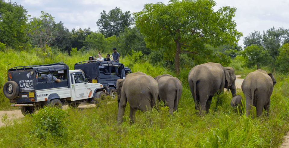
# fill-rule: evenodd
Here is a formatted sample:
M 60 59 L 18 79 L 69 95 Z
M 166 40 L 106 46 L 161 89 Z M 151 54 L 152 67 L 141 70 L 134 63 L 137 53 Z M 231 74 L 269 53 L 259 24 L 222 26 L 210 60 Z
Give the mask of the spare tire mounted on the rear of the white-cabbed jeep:
M 3 85 L 3 93 L 8 99 L 15 99 L 19 94 L 19 86 L 15 81 L 7 81 Z

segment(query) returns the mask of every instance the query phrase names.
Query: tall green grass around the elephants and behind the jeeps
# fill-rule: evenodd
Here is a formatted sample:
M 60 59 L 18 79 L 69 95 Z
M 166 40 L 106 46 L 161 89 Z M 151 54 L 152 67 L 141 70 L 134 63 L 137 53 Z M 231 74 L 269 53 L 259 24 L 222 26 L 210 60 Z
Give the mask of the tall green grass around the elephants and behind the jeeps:
M 19 55 L 13 51 L 9 54 L 1 54 L 10 58 Z M 21 56 L 34 55 L 23 53 Z M 70 69 L 73 69 L 74 63 L 84 61 L 88 56 L 89 54 L 83 53 L 82 56 L 70 57 L 61 53 L 58 58 L 51 59 L 48 63 L 64 61 Z M 8 65 L 7 61 L 10 58 L 5 56 L 4 58 L 6 61 L 2 59 L 0 63 L 2 85 L 6 81 L 8 68 L 44 63 L 44 60 L 17 60 L 18 64 Z M 125 65 L 130 64 L 126 58 L 120 61 Z M 5 65 L 6 69 L 3 68 Z M 172 71 L 163 67 L 154 67 L 147 61 L 133 65 L 130 67 L 133 72 L 141 71 L 152 77 L 164 73 L 174 75 Z M 246 118 L 244 114 L 236 112 L 230 106 L 232 98 L 230 92 L 224 92 L 218 96 L 221 101 L 217 106 L 217 96 L 213 97 L 209 113 L 198 116 L 187 83 L 188 71 L 181 70 L 179 75 L 183 83 L 183 92 L 178 111 L 174 112 L 173 117 L 169 115 L 168 108 L 163 107 L 163 102 L 160 102 L 157 103 L 157 109 L 154 108 L 152 111 L 145 113 L 137 111 L 135 123 L 130 124 L 129 104 L 127 104 L 124 122 L 119 125 L 117 124 L 117 101 L 106 97 L 98 108 L 68 108 L 67 116 L 62 120 L 69 122 L 62 127 L 63 130 L 65 129 L 65 135 L 62 136 L 53 136 L 49 132 L 44 132 L 44 135 L 39 136 L 36 133 L 36 123 L 33 122 L 35 120 L 29 115 L 20 120 L 11 120 L 7 116 L 0 117 L 4 123 L 4 126 L 0 127 L 0 147 L 280 147 L 284 134 L 289 130 L 289 94 L 287 91 L 289 78 L 287 75 L 274 74 L 277 84 L 271 96 L 269 117 L 261 116 L 252 119 Z M 237 71 L 236 73 L 243 72 Z M 244 98 L 240 89 L 237 90 L 237 94 Z M 3 93 L 0 93 L 0 97 L 2 100 L 0 107 L 5 110 L 4 106 L 9 104 L 8 99 Z

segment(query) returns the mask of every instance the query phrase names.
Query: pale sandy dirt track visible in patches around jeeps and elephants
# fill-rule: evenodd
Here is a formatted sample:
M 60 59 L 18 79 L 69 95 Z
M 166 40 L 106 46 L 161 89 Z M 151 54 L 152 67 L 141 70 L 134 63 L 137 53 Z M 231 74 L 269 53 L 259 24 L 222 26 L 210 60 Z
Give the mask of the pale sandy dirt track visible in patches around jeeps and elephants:
M 241 79 L 241 78 L 238 78 L 240 77 L 240 75 L 236 75 L 236 88 L 240 88 L 241 89 L 241 85 L 243 83 L 243 80 L 244 79 Z M 79 105 L 79 109 L 84 109 L 84 108 L 89 108 L 89 107 L 94 107 L 95 104 L 86 104 L 86 103 L 81 103 Z M 63 106 L 64 109 L 67 108 L 67 105 Z M 21 113 L 21 110 L 14 110 L 14 111 L 0 111 L 0 126 L 4 126 L 5 124 L 2 123 L 2 120 L 3 117 L 5 117 L 7 114 L 7 118 L 9 120 L 14 120 L 14 119 L 18 119 L 18 120 L 21 120 L 21 118 L 23 118 L 23 114 Z M 289 133 L 287 133 L 287 135 L 284 137 L 284 141 L 283 141 L 283 144 L 280 148 L 289 148 Z

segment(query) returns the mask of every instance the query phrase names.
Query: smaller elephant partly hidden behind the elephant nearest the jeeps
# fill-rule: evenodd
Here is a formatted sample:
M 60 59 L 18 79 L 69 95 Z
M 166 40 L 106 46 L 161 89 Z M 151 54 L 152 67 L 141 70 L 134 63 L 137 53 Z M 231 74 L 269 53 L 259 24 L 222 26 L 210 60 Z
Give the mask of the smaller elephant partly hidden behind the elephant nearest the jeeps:
M 169 113 L 178 109 L 179 100 L 182 96 L 182 82 L 172 75 L 163 74 L 154 78 L 159 87 L 158 99 L 165 102 L 169 107 Z

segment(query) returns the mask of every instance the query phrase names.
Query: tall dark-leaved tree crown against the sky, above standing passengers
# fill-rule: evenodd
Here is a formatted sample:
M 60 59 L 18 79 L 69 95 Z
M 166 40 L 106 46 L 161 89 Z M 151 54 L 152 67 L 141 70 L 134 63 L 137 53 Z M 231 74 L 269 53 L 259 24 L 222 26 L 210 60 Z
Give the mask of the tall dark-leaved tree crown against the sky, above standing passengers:
M 118 7 L 110 10 L 108 14 L 103 10 L 101 17 L 96 22 L 100 28 L 100 32 L 107 38 L 113 35 L 118 36 L 120 32 L 124 32 L 126 27 L 133 25 L 134 19 L 131 17 L 130 11 L 125 13 Z

